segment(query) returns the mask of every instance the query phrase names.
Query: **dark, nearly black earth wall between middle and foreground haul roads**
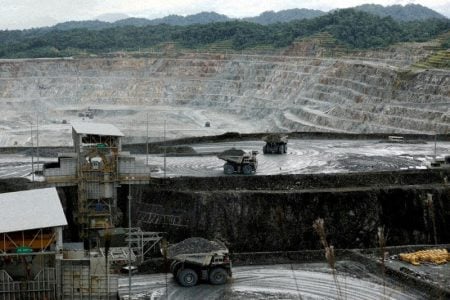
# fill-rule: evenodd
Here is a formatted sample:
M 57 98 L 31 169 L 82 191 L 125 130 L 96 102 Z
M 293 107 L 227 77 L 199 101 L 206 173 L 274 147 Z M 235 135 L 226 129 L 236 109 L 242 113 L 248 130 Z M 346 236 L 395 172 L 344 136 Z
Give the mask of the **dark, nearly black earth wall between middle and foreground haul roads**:
M 220 238 L 232 251 L 319 249 L 313 221 L 324 218 L 338 248 L 450 241 L 450 174 L 405 171 L 335 175 L 161 179 L 133 186 L 133 222 L 168 233 Z M 121 197 L 128 191 L 123 188 Z

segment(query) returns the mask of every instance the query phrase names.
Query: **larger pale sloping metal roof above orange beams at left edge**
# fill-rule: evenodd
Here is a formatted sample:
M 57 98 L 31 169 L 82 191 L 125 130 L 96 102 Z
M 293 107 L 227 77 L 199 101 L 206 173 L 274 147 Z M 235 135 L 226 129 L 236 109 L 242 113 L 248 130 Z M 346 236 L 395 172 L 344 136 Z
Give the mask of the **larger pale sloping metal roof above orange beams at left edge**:
M 55 188 L 0 194 L 0 233 L 65 225 Z

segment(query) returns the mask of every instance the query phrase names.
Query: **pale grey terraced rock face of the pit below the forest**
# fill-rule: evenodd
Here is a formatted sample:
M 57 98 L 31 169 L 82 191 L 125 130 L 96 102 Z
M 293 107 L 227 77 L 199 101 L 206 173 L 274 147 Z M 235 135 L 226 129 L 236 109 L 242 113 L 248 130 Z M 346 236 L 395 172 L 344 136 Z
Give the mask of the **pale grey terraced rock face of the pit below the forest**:
M 403 71 L 393 64 L 382 59 L 200 54 L 3 60 L 0 133 L 4 143 L 12 144 L 14 138 L 25 143 L 37 111 L 44 141 L 55 131 L 70 132 L 63 121 L 70 123 L 88 108 L 95 121 L 115 123 L 131 136 L 145 135 L 146 113 L 159 123 L 158 131 L 164 114 L 173 137 L 195 135 L 196 130 L 204 134 L 205 120 L 211 121 L 209 134 L 446 133 L 450 72 Z M 151 130 L 155 126 L 151 123 Z

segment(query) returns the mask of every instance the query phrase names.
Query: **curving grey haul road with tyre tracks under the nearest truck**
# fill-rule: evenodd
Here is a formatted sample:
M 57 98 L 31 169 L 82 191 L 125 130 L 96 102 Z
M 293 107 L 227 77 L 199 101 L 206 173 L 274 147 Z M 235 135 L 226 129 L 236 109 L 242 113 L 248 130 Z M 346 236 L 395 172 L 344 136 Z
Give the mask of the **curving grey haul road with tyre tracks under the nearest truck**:
M 340 265 L 346 271 L 336 277 L 323 263 L 235 267 L 225 285 L 191 288 L 178 285 L 171 274 L 137 275 L 132 278 L 132 299 L 425 299 L 411 289 L 383 286 L 363 265 Z M 127 277 L 119 279 L 119 297 L 128 299 Z

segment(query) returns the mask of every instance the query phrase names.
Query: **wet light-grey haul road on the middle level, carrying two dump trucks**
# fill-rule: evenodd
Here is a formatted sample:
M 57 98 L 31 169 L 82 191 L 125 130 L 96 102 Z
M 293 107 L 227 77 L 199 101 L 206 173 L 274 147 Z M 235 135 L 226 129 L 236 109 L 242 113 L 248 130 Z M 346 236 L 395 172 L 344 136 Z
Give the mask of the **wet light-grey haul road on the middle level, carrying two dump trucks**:
M 288 153 L 263 155 L 263 141 L 189 145 L 202 156 L 166 157 L 166 176 L 223 176 L 223 161 L 215 153 L 236 147 L 258 150 L 256 175 L 341 173 L 422 169 L 434 157 L 434 143 L 402 144 L 377 140 L 289 140 Z M 437 144 L 438 157 L 448 153 L 450 142 Z M 35 158 L 35 163 L 37 159 Z M 56 158 L 40 158 L 40 162 Z M 146 163 L 145 155 L 137 161 Z M 163 177 L 164 157 L 149 155 L 152 176 Z M 36 169 L 36 168 L 35 168 Z M 0 155 L 0 178 L 25 177 L 31 172 L 31 157 Z

